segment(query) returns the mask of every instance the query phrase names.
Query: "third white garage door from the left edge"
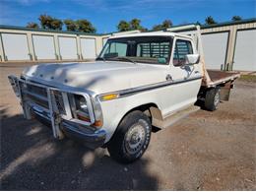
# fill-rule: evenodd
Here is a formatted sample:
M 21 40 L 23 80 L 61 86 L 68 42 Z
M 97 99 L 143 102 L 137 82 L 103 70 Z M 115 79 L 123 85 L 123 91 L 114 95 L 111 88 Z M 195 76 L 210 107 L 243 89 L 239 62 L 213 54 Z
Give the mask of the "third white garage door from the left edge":
M 59 37 L 61 59 L 78 59 L 76 37 Z

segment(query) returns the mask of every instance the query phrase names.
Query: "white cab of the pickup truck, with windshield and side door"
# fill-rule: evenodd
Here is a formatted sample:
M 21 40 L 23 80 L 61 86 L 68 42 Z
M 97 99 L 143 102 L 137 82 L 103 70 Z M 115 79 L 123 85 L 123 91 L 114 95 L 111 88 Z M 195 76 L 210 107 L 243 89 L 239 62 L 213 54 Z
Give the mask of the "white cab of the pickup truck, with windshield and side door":
M 108 39 L 97 58 L 126 62 L 127 59 L 135 66 L 151 67 L 159 71 L 156 75 L 145 74 L 150 76 L 145 85 L 153 88 L 162 86 L 163 92 L 159 90 L 158 98 L 161 102 L 157 103 L 163 116 L 196 101 L 203 77 L 202 63 L 191 37 L 171 32 L 113 36 Z M 133 87 L 145 86 L 140 85 L 143 79 L 141 76 L 138 82 L 133 83 Z M 172 87 L 168 88 L 168 85 Z

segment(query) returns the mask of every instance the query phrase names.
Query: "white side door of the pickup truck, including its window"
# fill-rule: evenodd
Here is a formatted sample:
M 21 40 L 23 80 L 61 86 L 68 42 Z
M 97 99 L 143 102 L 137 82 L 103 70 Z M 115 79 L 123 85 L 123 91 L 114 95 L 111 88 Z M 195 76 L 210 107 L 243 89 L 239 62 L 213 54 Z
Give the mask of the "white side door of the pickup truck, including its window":
M 167 111 L 175 112 L 183 107 L 193 104 L 201 86 L 200 64 L 185 65 L 187 54 L 197 53 L 196 48 L 189 38 L 174 37 L 170 56 L 170 66 L 166 70 L 166 81 L 170 86 L 169 98 L 165 106 Z

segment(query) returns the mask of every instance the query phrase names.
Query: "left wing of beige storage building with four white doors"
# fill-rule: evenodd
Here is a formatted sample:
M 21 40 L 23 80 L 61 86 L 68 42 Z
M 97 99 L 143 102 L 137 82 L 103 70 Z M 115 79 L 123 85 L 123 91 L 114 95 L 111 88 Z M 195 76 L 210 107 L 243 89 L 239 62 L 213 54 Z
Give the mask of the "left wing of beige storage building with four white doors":
M 0 62 L 92 60 L 102 47 L 99 35 L 1 27 L 0 40 Z M 93 47 L 90 52 L 87 42 Z

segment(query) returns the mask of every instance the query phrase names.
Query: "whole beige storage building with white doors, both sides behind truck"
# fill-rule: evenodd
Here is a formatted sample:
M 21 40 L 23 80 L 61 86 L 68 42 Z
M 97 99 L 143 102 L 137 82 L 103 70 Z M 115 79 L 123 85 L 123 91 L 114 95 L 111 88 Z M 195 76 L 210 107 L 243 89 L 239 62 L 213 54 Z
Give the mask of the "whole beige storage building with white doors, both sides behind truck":
M 202 26 L 201 32 L 209 69 L 256 70 L 256 19 Z M 0 62 L 92 60 L 110 35 L 0 26 Z

